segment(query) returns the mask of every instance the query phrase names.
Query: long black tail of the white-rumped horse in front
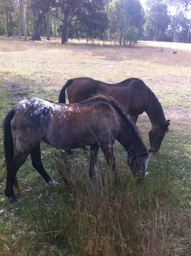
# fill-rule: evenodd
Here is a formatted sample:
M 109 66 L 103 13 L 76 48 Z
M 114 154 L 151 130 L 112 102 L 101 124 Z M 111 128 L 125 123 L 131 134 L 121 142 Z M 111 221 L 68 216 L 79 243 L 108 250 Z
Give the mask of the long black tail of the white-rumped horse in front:
M 11 120 L 15 115 L 14 109 L 11 109 L 5 119 L 3 121 L 3 132 L 4 132 L 4 152 L 5 152 L 5 164 L 6 164 L 6 171 L 7 167 L 10 164 L 11 160 L 14 156 L 14 144 L 13 144 L 13 137 L 11 133 Z M 14 178 L 13 185 L 16 189 L 19 189 L 19 184 L 17 182 L 16 176 Z

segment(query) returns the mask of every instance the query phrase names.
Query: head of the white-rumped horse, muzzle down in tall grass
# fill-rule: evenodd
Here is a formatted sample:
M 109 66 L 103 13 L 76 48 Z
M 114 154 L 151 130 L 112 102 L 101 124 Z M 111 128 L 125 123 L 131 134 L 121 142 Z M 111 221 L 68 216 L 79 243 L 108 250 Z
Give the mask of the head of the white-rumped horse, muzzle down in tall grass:
M 141 183 L 145 177 L 150 152 L 153 152 L 153 149 L 149 149 L 148 152 L 129 154 L 128 165 L 135 176 L 137 184 Z

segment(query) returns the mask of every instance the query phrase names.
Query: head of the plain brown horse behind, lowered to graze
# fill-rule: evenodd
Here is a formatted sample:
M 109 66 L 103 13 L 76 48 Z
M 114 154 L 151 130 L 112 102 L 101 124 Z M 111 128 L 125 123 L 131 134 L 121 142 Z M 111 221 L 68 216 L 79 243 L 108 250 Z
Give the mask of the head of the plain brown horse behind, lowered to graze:
M 162 140 L 164 139 L 164 135 L 166 132 L 168 132 L 168 125 L 170 120 L 167 120 L 164 125 L 162 125 L 160 128 L 158 127 L 152 127 L 149 132 L 149 140 L 151 148 L 154 148 L 154 152 L 158 152 L 160 145 L 162 143 Z

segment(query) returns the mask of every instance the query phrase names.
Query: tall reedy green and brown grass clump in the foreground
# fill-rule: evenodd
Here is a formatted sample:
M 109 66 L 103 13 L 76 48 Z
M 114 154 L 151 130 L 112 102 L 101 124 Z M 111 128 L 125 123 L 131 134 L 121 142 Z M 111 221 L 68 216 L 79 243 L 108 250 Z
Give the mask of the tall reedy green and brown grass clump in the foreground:
M 153 172 L 139 187 L 119 161 L 115 176 L 99 162 L 93 182 L 85 159 L 71 169 L 63 153 L 53 153 L 53 160 L 59 185 L 47 208 L 38 202 L 38 245 L 82 256 L 189 255 L 189 226 L 180 221 L 181 202 L 167 158 L 153 161 Z

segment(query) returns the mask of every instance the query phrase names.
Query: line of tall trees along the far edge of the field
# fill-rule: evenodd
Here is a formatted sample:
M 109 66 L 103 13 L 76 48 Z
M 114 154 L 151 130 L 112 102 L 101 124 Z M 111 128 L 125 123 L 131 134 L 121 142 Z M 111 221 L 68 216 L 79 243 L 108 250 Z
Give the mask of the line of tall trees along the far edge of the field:
M 0 0 L 0 36 L 61 36 L 62 44 L 69 38 L 125 46 L 137 40 L 191 43 L 189 3 L 147 0 L 144 10 L 139 0 Z

